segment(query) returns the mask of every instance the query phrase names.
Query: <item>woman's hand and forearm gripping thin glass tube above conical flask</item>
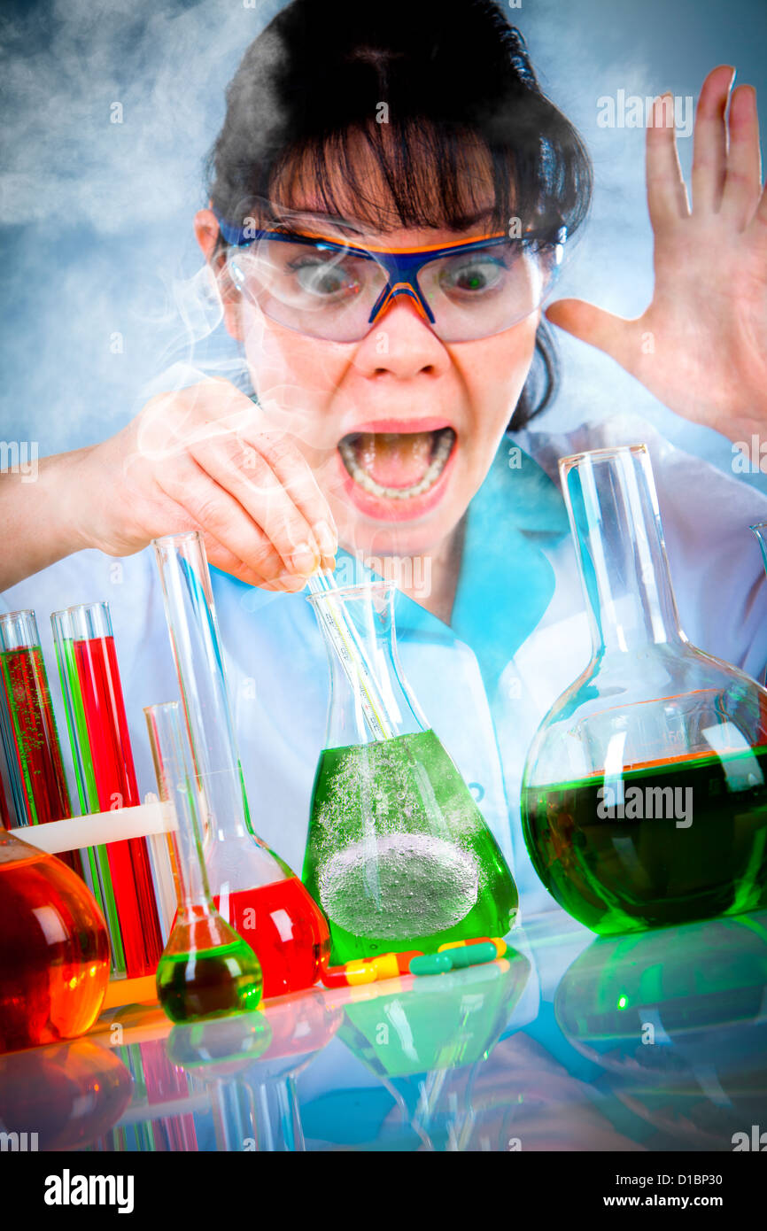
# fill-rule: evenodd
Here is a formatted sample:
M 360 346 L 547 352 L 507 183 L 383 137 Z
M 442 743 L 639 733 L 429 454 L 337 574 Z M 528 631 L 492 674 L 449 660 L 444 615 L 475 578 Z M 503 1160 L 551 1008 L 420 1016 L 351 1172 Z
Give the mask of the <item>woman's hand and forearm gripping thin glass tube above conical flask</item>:
M 188 531 L 202 533 L 217 569 L 272 591 L 303 590 L 337 551 L 298 446 L 219 378 L 158 394 L 116 436 L 44 458 L 39 483 L 4 478 L 0 590 L 84 548 L 133 555 Z

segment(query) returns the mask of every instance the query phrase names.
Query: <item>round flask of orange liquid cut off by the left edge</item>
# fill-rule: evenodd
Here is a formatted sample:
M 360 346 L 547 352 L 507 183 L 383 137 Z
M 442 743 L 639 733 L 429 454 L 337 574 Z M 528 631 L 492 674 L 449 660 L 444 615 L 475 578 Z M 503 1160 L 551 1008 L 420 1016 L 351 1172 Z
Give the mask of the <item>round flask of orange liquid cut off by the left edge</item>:
M 0 830 L 0 1051 L 91 1028 L 110 977 L 103 918 L 54 856 Z

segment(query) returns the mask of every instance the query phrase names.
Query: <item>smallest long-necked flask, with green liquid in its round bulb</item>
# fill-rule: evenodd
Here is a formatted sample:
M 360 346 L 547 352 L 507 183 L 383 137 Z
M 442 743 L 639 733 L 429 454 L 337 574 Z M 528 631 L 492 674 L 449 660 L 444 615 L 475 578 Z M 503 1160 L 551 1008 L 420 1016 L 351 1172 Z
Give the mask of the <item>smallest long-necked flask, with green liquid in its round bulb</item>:
M 197 782 L 177 702 L 144 710 L 160 798 L 175 811 L 179 910 L 158 964 L 158 1000 L 171 1022 L 244 1013 L 261 1000 L 261 966 L 214 908 L 202 854 Z

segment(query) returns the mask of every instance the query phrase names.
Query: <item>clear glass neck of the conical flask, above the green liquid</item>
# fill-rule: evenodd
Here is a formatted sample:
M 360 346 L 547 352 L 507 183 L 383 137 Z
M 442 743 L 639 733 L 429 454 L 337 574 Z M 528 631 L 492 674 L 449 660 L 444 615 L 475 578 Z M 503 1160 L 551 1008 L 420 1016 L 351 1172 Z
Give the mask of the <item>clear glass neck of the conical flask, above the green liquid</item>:
M 396 652 L 389 582 L 309 595 L 330 662 L 326 747 L 348 747 L 427 728 Z

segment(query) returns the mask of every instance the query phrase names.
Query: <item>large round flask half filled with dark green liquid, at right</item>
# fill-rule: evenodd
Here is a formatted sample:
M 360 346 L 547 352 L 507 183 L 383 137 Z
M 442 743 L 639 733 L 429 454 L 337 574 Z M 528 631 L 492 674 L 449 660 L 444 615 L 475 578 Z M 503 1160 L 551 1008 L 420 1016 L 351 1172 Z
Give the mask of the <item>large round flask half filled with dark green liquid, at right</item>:
M 680 628 L 646 446 L 559 465 L 593 646 L 527 757 L 536 870 L 603 934 L 756 908 L 767 693 Z

